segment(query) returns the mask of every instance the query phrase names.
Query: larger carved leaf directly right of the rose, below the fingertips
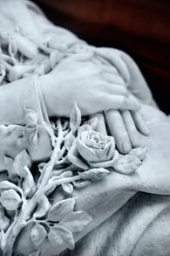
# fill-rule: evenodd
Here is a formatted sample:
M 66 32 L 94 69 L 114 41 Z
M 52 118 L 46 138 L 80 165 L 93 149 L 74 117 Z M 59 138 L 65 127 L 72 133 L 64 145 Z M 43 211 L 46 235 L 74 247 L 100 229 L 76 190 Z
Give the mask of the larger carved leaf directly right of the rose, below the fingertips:
M 136 156 L 122 156 L 113 163 L 113 169 L 122 174 L 131 174 L 137 170 L 141 164 L 141 161 Z

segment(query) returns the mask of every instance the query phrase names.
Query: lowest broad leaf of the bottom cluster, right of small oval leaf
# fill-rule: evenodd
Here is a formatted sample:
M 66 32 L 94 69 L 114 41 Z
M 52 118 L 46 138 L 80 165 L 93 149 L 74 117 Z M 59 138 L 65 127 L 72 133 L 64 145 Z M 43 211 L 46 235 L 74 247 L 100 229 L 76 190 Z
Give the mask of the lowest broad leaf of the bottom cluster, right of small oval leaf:
M 56 225 L 51 227 L 48 239 L 52 245 L 57 244 L 58 247 L 65 246 L 66 248 L 73 250 L 75 246 L 72 233 L 64 226 Z

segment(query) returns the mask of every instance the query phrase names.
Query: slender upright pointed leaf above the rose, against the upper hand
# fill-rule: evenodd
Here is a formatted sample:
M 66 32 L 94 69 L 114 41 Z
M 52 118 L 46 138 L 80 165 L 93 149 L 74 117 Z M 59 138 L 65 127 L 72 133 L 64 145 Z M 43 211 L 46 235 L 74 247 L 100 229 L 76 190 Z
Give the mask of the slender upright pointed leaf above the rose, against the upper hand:
M 78 108 L 77 103 L 74 103 L 74 106 L 71 109 L 71 115 L 70 115 L 70 128 L 72 133 L 74 134 L 75 131 L 78 130 L 81 123 L 81 112 Z

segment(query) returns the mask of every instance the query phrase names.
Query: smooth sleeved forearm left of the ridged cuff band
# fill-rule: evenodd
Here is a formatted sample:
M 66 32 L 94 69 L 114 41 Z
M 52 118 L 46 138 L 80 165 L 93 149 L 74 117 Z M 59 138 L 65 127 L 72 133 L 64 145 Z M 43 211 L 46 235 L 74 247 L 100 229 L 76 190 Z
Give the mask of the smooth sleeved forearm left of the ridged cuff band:
M 0 86 L 0 123 L 24 125 L 24 107 L 34 109 L 39 121 L 42 121 L 35 80 L 36 76 L 32 76 Z

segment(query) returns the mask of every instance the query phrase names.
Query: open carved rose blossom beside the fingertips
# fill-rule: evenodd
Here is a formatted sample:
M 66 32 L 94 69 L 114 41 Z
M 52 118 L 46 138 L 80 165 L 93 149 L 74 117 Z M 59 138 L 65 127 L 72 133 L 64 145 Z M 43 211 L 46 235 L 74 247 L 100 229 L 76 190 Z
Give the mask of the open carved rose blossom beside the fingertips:
M 88 170 L 94 167 L 111 167 L 118 155 L 114 138 L 101 135 L 89 126 L 73 142 L 68 159 L 79 168 Z

